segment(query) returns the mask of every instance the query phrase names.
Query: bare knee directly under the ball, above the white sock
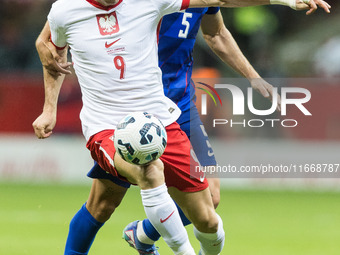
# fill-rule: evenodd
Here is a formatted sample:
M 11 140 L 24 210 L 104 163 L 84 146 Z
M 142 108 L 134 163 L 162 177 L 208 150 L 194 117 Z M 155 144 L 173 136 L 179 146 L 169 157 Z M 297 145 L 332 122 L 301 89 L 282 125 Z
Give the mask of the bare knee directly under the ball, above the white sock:
M 138 185 L 141 189 L 156 188 L 164 183 L 164 165 L 161 160 L 152 161 L 140 170 Z

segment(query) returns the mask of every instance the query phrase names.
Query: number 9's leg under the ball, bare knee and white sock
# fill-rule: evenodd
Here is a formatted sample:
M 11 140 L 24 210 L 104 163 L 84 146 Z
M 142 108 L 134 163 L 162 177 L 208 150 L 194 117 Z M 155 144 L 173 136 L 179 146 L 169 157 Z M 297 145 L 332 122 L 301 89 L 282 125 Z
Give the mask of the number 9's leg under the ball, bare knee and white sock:
M 194 255 L 177 207 L 168 194 L 163 162 L 158 159 L 137 166 L 125 162 L 117 153 L 114 162 L 122 176 L 141 188 L 145 213 L 172 251 L 176 255 Z

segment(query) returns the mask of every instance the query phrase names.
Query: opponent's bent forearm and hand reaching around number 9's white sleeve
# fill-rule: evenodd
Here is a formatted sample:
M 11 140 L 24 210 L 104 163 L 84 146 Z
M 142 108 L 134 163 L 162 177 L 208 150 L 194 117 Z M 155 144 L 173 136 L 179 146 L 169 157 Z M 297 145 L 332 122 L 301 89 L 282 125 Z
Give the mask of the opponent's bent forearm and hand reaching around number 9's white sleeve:
M 50 41 L 50 25 L 47 21 L 39 37 L 35 42 L 40 61 L 43 67 L 52 76 L 60 76 L 62 74 L 71 74 L 69 70 L 72 63 L 63 60 L 57 52 L 57 49 Z

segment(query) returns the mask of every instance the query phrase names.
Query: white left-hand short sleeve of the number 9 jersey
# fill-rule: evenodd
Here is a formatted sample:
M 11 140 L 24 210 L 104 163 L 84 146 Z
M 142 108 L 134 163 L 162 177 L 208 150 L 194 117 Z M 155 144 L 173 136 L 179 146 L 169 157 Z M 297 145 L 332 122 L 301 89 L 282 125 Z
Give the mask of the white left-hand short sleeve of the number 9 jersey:
M 65 27 L 62 23 L 62 13 L 58 12 L 58 2 L 52 5 L 51 11 L 48 14 L 48 22 L 51 29 L 51 42 L 56 46 L 57 49 L 63 49 L 66 47 L 66 35 Z

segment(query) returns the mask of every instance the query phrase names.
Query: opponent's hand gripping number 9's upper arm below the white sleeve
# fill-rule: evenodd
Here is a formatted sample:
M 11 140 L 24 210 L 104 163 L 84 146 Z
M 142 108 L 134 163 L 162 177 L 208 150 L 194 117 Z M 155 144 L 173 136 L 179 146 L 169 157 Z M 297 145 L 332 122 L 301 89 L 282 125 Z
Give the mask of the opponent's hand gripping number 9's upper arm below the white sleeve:
M 71 74 L 70 67 L 72 63 L 63 63 L 62 57 L 58 54 L 56 48 L 51 42 L 41 41 L 37 46 L 40 61 L 46 68 L 47 72 L 53 77 L 60 76 L 62 74 Z

